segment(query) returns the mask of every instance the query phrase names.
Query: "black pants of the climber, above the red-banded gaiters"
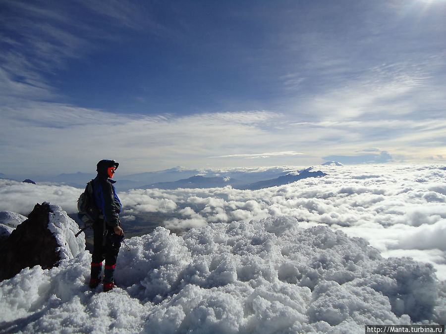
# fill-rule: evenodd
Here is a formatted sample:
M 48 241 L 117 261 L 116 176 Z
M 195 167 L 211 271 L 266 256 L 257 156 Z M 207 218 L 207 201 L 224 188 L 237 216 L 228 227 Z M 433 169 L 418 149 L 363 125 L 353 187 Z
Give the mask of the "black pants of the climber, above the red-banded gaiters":
M 113 229 L 106 227 L 107 234 L 104 235 L 104 220 L 97 220 L 93 223 L 93 254 L 92 262 L 101 263 L 106 260 L 106 266 L 116 264 L 117 255 L 119 253 L 119 242 L 111 242 Z

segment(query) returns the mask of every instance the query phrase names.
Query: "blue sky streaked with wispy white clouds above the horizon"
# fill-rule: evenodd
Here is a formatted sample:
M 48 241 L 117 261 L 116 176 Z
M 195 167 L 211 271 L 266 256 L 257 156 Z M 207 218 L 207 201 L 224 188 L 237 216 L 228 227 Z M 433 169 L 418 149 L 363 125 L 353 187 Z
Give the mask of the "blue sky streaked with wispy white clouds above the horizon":
M 446 1 L 0 1 L 0 172 L 446 158 Z

